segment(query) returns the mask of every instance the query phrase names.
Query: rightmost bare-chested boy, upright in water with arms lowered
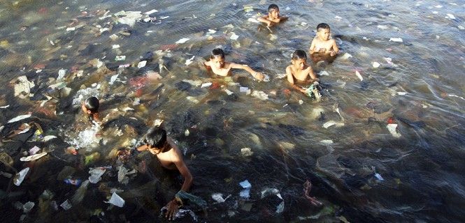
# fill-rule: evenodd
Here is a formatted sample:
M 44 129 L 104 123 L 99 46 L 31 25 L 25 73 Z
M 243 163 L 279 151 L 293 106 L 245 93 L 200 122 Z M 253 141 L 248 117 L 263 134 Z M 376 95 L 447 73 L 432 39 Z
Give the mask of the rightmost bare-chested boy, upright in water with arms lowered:
M 330 39 L 331 29 L 326 23 L 320 23 L 317 25 L 317 36 L 313 38 L 310 44 L 310 54 L 329 54 L 330 56 L 336 56 L 339 53 L 338 45 L 336 40 Z

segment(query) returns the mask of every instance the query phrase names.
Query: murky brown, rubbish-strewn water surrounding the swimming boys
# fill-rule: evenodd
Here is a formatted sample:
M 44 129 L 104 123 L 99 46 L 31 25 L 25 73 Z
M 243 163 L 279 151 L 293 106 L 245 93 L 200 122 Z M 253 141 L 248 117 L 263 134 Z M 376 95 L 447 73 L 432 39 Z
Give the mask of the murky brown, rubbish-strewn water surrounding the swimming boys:
M 113 159 L 155 119 L 165 121 L 185 151 L 192 192 L 209 203 L 208 215 L 194 210 L 201 221 L 464 220 L 462 1 L 286 1 L 280 13 L 290 19 L 271 29 L 248 20 L 266 12 L 266 1 L 0 3 L 0 153 L 15 161 L 0 167 L 13 174 L 31 167 L 20 187 L 0 176 L 1 213 L 10 221 L 162 220 L 164 199 L 180 187 L 176 177 L 165 180 L 166 172 L 143 154 L 127 165 L 146 164 L 148 171 L 122 185 Z M 132 25 L 130 17 L 146 20 Z M 343 54 L 329 64 L 308 60 L 323 87 L 322 102 L 315 102 L 280 74 L 295 49 L 308 49 L 320 22 L 331 26 Z M 208 75 L 202 63 L 215 47 L 271 82 L 243 71 Z M 30 97 L 17 98 L 22 75 L 34 87 Z M 80 99 L 90 95 L 101 99 L 95 141 L 79 111 Z M 7 123 L 28 112 L 30 120 Z M 7 138 L 30 121 L 58 138 Z M 20 162 L 36 145 L 49 155 Z M 110 165 L 100 183 L 63 181 L 65 175 L 86 180 L 89 168 Z M 239 197 L 243 180 L 252 184 L 250 200 Z M 306 180 L 323 206 L 303 196 Z M 260 196 L 266 188 L 280 192 L 282 213 L 276 212 L 281 199 Z M 115 190 L 124 208 L 103 203 Z M 215 193 L 231 197 L 215 203 Z M 72 208 L 63 210 L 67 199 Z M 23 215 L 16 201 L 36 206 Z

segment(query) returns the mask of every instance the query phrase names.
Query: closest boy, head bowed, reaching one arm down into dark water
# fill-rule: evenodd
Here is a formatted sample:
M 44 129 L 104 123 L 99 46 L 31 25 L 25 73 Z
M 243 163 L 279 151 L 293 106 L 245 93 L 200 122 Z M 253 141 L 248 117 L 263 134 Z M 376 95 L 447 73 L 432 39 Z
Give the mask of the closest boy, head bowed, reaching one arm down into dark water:
M 166 131 L 159 126 L 148 130 L 143 139 L 145 145 L 139 146 L 138 151 L 148 150 L 153 155 L 156 155 L 162 167 L 166 169 L 178 170 L 184 178 L 184 183 L 181 190 L 187 192 L 192 185 L 192 175 L 183 160 L 183 153 L 178 146 L 173 142 L 173 139 L 166 137 Z M 173 219 L 178 212 L 178 208 L 182 205 L 176 197 L 166 204 L 166 215 L 169 219 Z

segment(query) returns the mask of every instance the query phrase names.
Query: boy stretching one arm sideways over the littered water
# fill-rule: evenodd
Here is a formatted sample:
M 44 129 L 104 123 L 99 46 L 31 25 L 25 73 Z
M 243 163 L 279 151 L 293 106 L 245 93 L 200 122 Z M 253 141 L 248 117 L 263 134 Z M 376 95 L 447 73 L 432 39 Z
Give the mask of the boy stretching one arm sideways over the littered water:
M 203 63 L 207 68 L 211 68 L 215 75 L 228 76 L 231 74 L 231 69 L 242 69 L 250 73 L 255 79 L 263 80 L 264 75 L 261 72 L 256 72 L 246 65 L 229 63 L 224 61 L 224 52 L 222 49 L 213 49 L 210 55 L 210 60 Z

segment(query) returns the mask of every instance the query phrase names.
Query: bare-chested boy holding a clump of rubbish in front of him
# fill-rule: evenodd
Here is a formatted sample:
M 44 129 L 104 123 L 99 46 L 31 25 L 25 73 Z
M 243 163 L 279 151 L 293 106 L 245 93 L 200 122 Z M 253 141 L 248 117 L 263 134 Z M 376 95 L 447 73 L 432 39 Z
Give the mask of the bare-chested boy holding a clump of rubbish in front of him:
M 286 68 L 287 81 L 291 83 L 293 89 L 307 94 L 306 89 L 295 84 L 298 82 L 307 85 L 318 80 L 312 68 L 307 65 L 307 54 L 303 50 L 297 49 L 292 54 L 291 63 L 292 65 Z

